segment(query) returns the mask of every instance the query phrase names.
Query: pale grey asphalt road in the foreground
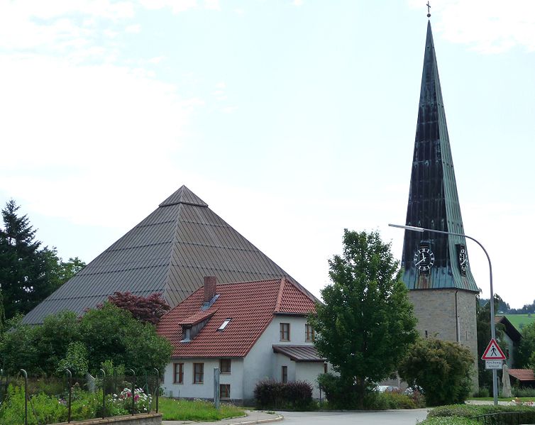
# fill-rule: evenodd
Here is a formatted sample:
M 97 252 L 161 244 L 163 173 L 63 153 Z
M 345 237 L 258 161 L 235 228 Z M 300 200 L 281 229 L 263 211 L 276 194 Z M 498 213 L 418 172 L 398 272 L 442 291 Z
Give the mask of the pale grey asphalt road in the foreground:
M 417 421 L 426 419 L 427 409 L 277 413 L 285 416 L 285 419 L 280 422 L 281 425 L 414 425 Z

